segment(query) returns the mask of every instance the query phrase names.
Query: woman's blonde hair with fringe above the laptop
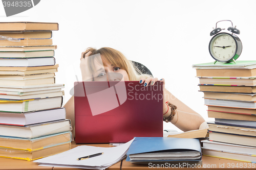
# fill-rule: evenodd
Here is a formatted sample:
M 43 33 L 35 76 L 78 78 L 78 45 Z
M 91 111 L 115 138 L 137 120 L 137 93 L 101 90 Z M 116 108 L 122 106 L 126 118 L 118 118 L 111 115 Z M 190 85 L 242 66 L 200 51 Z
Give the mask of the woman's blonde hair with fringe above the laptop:
M 129 61 L 121 52 L 115 50 L 114 48 L 102 47 L 97 50 L 96 48 L 89 47 L 87 48 L 86 53 L 84 53 L 83 58 L 88 52 L 92 52 L 90 56 L 100 54 L 101 58 L 105 59 L 106 62 L 124 69 L 127 72 L 130 81 L 137 81 L 140 80 L 140 78 L 146 79 L 148 77 L 152 77 L 151 75 L 141 74 L 141 71 L 131 61 Z M 92 61 L 89 66 L 91 71 L 95 69 Z

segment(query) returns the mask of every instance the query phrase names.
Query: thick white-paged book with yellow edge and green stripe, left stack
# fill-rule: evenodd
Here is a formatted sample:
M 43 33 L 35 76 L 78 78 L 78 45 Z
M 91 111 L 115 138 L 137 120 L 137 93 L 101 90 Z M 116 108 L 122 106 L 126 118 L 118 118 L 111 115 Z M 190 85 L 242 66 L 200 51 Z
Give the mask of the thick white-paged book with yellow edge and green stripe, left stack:
M 47 110 L 62 106 L 62 96 L 30 100 L 0 100 L 0 112 L 29 112 Z

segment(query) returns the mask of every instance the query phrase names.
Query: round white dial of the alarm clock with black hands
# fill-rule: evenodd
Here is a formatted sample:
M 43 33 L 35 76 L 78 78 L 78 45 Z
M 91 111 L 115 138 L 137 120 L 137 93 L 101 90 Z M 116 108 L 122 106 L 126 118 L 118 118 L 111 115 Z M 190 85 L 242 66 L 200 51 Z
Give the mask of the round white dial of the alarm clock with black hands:
M 220 33 L 212 37 L 209 50 L 217 61 L 226 62 L 237 53 L 237 41 L 228 33 Z

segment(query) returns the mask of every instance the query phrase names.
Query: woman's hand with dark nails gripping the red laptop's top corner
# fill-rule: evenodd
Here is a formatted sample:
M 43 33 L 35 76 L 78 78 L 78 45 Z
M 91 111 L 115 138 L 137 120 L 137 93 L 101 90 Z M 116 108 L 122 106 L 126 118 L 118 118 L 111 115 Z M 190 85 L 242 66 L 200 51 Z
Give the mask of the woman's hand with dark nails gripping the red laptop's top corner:
M 144 84 L 144 86 L 154 86 L 155 83 L 158 81 L 158 78 L 147 78 L 147 79 L 144 79 L 144 78 L 140 78 L 139 82 L 140 84 Z M 165 104 L 165 80 L 164 79 L 160 79 L 159 80 L 160 82 L 163 82 L 163 114 L 167 112 L 168 110 L 168 106 L 166 106 Z

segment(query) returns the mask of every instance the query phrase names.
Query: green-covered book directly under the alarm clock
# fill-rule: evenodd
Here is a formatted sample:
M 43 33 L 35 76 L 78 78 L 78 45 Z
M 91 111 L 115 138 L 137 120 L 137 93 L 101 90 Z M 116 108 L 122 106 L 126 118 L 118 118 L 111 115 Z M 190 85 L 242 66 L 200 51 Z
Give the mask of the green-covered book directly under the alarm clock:
M 239 60 L 230 63 L 225 62 L 209 62 L 209 63 L 201 63 L 201 64 L 193 64 L 193 68 L 256 68 L 255 60 Z

